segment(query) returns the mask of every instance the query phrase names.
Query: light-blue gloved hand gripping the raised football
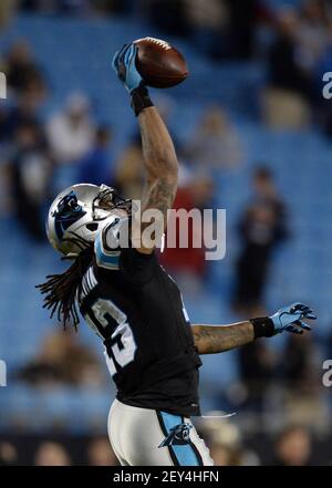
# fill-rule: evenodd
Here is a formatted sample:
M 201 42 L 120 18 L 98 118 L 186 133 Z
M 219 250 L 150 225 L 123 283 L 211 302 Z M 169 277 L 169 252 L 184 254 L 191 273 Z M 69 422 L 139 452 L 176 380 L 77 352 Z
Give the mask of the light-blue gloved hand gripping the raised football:
M 112 61 L 113 70 L 129 93 L 144 84 L 135 63 L 137 50 L 138 48 L 135 44 L 124 44 L 124 46 L 115 53 Z

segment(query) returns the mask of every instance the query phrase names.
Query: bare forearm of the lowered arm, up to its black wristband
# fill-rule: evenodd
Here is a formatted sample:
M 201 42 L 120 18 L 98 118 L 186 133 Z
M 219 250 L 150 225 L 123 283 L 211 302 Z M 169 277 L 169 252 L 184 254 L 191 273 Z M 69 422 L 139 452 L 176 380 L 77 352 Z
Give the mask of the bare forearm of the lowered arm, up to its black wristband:
M 199 354 L 221 353 L 255 340 L 251 322 L 231 325 L 193 325 L 193 334 Z

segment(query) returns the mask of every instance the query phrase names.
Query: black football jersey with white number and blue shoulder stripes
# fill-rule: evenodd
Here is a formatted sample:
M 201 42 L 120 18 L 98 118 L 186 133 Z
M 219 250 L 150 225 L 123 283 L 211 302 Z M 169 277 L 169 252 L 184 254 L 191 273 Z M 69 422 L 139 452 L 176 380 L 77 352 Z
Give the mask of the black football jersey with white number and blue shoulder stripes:
M 108 246 L 112 232 L 114 226 L 106 226 L 95 240 L 80 309 L 104 342 L 117 398 L 133 406 L 200 415 L 201 362 L 181 293 L 155 252 L 114 250 Z

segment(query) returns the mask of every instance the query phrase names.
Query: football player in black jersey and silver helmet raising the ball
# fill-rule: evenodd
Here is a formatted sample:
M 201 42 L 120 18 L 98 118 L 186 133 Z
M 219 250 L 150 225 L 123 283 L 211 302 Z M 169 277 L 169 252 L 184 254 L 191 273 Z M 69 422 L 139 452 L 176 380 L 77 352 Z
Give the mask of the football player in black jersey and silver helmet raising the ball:
M 136 51 L 134 44 L 125 45 L 113 68 L 129 92 L 142 134 L 142 211 L 159 210 L 163 218 L 157 225 L 164 232 L 177 189 L 178 162 L 136 70 Z M 80 310 L 103 341 L 117 387 L 108 434 L 122 465 L 212 465 L 190 419 L 200 415 L 200 355 L 283 331 L 302 333 L 310 330 L 303 319 L 315 315 L 309 307 L 293 303 L 272 316 L 191 325 L 179 289 L 159 266 L 154 246 L 141 239 L 147 224 L 134 231 L 135 219 L 132 201 L 114 188 L 81 184 L 62 191 L 50 208 L 46 232 L 51 245 L 73 263 L 39 285 L 44 307 L 75 328 Z M 129 246 L 121 245 L 125 227 L 133 230 Z

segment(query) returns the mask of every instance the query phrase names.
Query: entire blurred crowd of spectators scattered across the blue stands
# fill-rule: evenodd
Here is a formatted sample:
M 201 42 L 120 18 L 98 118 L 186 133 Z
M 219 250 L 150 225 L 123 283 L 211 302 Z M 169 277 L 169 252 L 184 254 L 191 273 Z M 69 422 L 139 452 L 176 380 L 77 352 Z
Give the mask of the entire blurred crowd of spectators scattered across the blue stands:
M 216 62 L 264 59 L 262 122 L 282 128 L 304 128 L 315 122 L 332 135 L 331 107 L 321 103 L 320 95 L 322 73 L 332 64 L 332 9 L 328 1 L 308 0 L 299 8 L 277 11 L 259 0 L 3 1 L 2 22 L 10 21 L 14 4 L 24 11 L 52 14 L 145 15 L 162 31 L 185 37 Z M 43 245 L 45 211 L 66 184 L 104 183 L 126 197 L 139 197 L 143 172 L 138 134 L 132 134 L 115 157 L 113 128 L 96 120 L 91 101 L 79 92 L 71 93 L 44 120 L 41 108 L 52 96 L 52 82 L 24 40 L 13 42 L 2 53 L 0 71 L 7 75 L 9 90 L 9 103 L 0 104 L 0 216 L 15 216 L 22 231 Z M 160 110 L 167 120 L 169 106 Z M 203 210 L 214 207 L 214 172 L 222 174 L 241 165 L 246 149 L 227 111 L 215 103 L 205 107 L 196 129 L 177 150 L 181 168 L 174 207 Z M 240 318 L 266 313 L 266 289 L 276 250 L 292 238 L 287 201 L 269 165 L 257 162 L 250 193 L 239 221 L 232 222 L 239 249 L 229 305 Z M 189 241 L 188 249 L 166 249 L 160 260 L 180 287 L 194 295 L 201 290 L 209 272 L 204 249 Z M 318 367 L 313 367 L 317 364 L 317 344 L 310 335 L 300 340 L 288 336 L 281 353 L 263 341 L 240 349 L 239 382 L 224 392 L 222 398 L 220 394 L 220 402 L 227 408 L 240 407 L 249 414 L 247 418 L 255 413 L 258 423 L 264 422 L 267 412 L 272 415 L 278 405 L 283 405 L 289 426 L 279 428 L 274 451 L 267 459 L 255 446 L 246 447 L 234 424 L 203 425 L 216 464 L 310 464 L 313 440 L 303 425 L 320 427 L 325 415 L 314 373 Z M 30 363 L 14 375 L 34 387 L 103 387 L 108 381 L 100 359 L 76 335 L 61 330 L 50 333 Z M 301 425 L 295 424 L 299 420 Z M 84 456 L 91 465 L 115 464 L 103 438 L 87 443 Z M 32 458 L 39 466 L 74 463 L 70 449 L 55 440 L 42 442 Z M 19 460 L 14 443 L 0 442 L 0 464 Z

